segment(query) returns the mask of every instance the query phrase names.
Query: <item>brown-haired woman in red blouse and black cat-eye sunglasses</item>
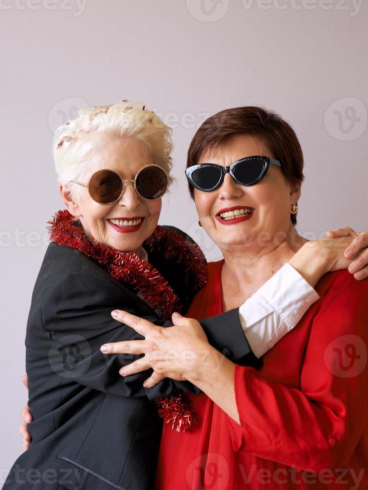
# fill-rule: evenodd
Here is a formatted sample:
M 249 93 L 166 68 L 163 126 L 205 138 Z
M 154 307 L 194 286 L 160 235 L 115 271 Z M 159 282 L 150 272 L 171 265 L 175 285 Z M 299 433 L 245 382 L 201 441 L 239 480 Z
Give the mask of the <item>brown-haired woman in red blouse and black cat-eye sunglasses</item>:
M 193 319 L 239 306 L 307 241 L 294 226 L 303 180 L 295 132 L 260 107 L 224 110 L 195 134 L 187 177 L 224 259 L 209 264 L 190 318 L 173 316 L 176 327 L 163 329 L 115 311 L 145 340 L 105 346 L 145 354 L 125 376 L 152 367 L 203 391 L 187 395 L 196 420 L 187 433 L 164 426 L 157 488 L 366 488 L 367 280 L 322 275 L 319 299 L 259 369 L 217 352 Z

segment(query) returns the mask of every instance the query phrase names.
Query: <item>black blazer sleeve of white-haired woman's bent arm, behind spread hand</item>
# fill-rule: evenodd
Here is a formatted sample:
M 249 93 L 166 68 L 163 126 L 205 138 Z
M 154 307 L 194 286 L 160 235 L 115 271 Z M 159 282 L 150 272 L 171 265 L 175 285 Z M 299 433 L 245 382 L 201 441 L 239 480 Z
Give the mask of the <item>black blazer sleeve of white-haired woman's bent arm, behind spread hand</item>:
M 53 341 L 49 351 L 53 369 L 64 378 L 118 396 L 148 396 L 155 399 L 169 395 L 174 388 L 200 392 L 189 382 L 169 378 L 153 388 L 144 388 L 143 381 L 152 369 L 131 376 L 119 374 L 122 365 L 140 356 L 101 352 L 100 347 L 104 343 L 143 338 L 111 316 L 115 308 L 125 309 L 161 326 L 172 324 L 171 321 L 142 314 L 133 300 L 134 294 L 125 292 L 119 286 L 109 277 L 104 279 L 83 269 L 56 278 L 42 304 L 43 326 Z M 233 334 L 225 336 L 223 330 L 228 325 Z M 214 346 L 221 351 L 225 349 L 224 354 L 231 354 L 231 357 L 234 354 L 240 360 L 252 357 L 237 310 L 225 313 L 223 318 L 206 319 L 203 326 Z M 254 362 L 257 361 L 254 356 Z

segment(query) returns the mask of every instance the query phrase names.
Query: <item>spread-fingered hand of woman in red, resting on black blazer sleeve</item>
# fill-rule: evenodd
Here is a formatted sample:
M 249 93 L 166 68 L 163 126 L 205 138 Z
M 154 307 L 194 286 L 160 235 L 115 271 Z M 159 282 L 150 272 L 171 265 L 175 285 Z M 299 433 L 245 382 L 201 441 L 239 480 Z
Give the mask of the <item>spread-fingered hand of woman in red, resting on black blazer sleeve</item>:
M 115 311 L 116 316 L 113 315 Z M 143 384 L 145 387 L 154 386 L 163 377 L 186 380 L 202 359 L 213 351 L 217 352 L 208 343 L 201 324 L 193 318 L 173 313 L 174 326 L 165 328 L 126 311 L 115 311 L 112 316 L 116 320 L 131 326 L 145 339 L 107 343 L 101 346 L 101 350 L 106 354 L 145 354 L 119 371 L 121 375 L 128 376 L 153 368 L 153 374 Z

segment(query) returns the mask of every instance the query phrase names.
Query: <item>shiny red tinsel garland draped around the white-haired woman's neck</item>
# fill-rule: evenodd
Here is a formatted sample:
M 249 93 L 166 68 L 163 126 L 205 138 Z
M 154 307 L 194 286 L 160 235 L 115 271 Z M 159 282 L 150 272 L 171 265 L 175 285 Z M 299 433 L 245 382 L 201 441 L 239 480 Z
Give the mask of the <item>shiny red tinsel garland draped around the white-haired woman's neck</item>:
M 168 281 L 144 258 L 89 238 L 67 209 L 59 210 L 48 223 L 51 241 L 79 250 L 102 266 L 114 279 L 133 285 L 137 294 L 162 318 L 170 318 L 174 311 L 182 311 L 180 299 Z M 194 295 L 206 283 L 206 260 L 196 243 L 189 243 L 180 234 L 157 226 L 143 245 L 148 252 L 162 253 L 163 260 L 175 260 L 176 263 L 184 265 L 192 279 L 192 289 L 188 291 L 188 297 Z M 172 428 L 185 432 L 191 426 L 193 415 L 182 393 L 158 399 L 157 403 L 161 405 L 160 415 L 166 423 L 172 424 Z

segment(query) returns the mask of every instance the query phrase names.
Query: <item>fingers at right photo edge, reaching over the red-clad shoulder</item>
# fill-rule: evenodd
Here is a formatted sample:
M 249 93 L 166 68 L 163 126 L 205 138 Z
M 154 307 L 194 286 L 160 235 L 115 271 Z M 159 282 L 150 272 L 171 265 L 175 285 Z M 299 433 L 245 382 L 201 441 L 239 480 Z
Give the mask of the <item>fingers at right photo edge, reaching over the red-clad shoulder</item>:
M 345 226 L 344 228 L 327 231 L 326 236 L 328 238 L 350 236 L 352 242 L 346 248 L 344 253 L 344 258 L 352 260 L 348 266 L 348 271 L 350 274 L 353 274 L 354 278 L 357 280 L 368 277 L 368 231 L 360 233 L 354 231 L 349 226 Z

